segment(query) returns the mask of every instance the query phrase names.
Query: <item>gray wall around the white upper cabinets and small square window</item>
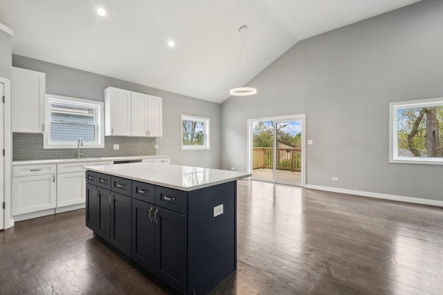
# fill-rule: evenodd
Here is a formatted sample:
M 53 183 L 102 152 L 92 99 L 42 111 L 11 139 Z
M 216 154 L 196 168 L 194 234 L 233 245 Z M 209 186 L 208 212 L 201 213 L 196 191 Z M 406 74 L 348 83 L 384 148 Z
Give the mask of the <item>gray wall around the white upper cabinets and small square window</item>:
M 156 139 L 156 144 L 159 145 L 156 154 L 170 155 L 172 164 L 206 166 L 210 168 L 219 168 L 220 166 L 220 104 L 19 55 L 12 55 L 12 65 L 46 73 L 46 93 L 54 95 L 79 97 L 103 102 L 105 99 L 104 89 L 114 86 L 129 91 L 163 97 L 163 137 Z M 213 136 L 211 137 L 211 149 L 209 151 L 181 151 L 181 113 L 209 117 L 211 119 L 211 132 Z M 147 144 L 151 144 L 151 146 L 155 144 L 150 139 L 144 140 Z M 107 138 L 105 143 L 111 141 Z M 123 152 L 124 150 L 120 147 L 120 151 L 111 151 L 110 153 L 112 155 L 123 155 Z M 91 151 L 92 153 L 95 152 Z M 149 149 L 145 155 L 150 155 L 151 153 L 152 150 Z M 128 151 L 127 155 L 131 155 L 130 151 Z

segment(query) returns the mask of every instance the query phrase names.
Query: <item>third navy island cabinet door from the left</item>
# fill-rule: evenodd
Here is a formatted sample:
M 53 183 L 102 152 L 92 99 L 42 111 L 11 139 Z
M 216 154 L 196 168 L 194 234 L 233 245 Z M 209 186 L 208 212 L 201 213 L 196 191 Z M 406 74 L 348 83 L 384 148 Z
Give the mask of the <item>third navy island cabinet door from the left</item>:
M 131 257 L 132 198 L 111 193 L 111 245 Z

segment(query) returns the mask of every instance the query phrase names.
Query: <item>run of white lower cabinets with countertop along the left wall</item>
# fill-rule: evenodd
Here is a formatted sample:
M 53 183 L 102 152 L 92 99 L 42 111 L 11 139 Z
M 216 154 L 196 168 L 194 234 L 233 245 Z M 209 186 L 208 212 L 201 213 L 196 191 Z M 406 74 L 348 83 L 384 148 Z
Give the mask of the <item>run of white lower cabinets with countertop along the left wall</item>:
M 143 159 L 169 163 L 170 158 Z M 84 166 L 112 165 L 114 161 L 69 162 L 12 166 L 12 216 L 15 221 L 84 208 Z

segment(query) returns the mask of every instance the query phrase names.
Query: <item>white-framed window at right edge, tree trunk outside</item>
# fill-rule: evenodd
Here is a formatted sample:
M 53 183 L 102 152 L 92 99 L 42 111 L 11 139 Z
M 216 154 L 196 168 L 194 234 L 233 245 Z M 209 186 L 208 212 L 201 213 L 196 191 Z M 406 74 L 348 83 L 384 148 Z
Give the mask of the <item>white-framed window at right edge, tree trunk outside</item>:
M 392 163 L 443 164 L 443 98 L 392 102 Z

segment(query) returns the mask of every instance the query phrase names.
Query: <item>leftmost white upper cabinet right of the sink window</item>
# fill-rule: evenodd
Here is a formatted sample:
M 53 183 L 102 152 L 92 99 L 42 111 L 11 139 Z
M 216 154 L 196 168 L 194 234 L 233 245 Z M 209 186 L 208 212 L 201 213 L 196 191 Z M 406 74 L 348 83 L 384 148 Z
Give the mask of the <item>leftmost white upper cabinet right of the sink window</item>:
M 131 136 L 131 91 L 105 89 L 105 135 Z

